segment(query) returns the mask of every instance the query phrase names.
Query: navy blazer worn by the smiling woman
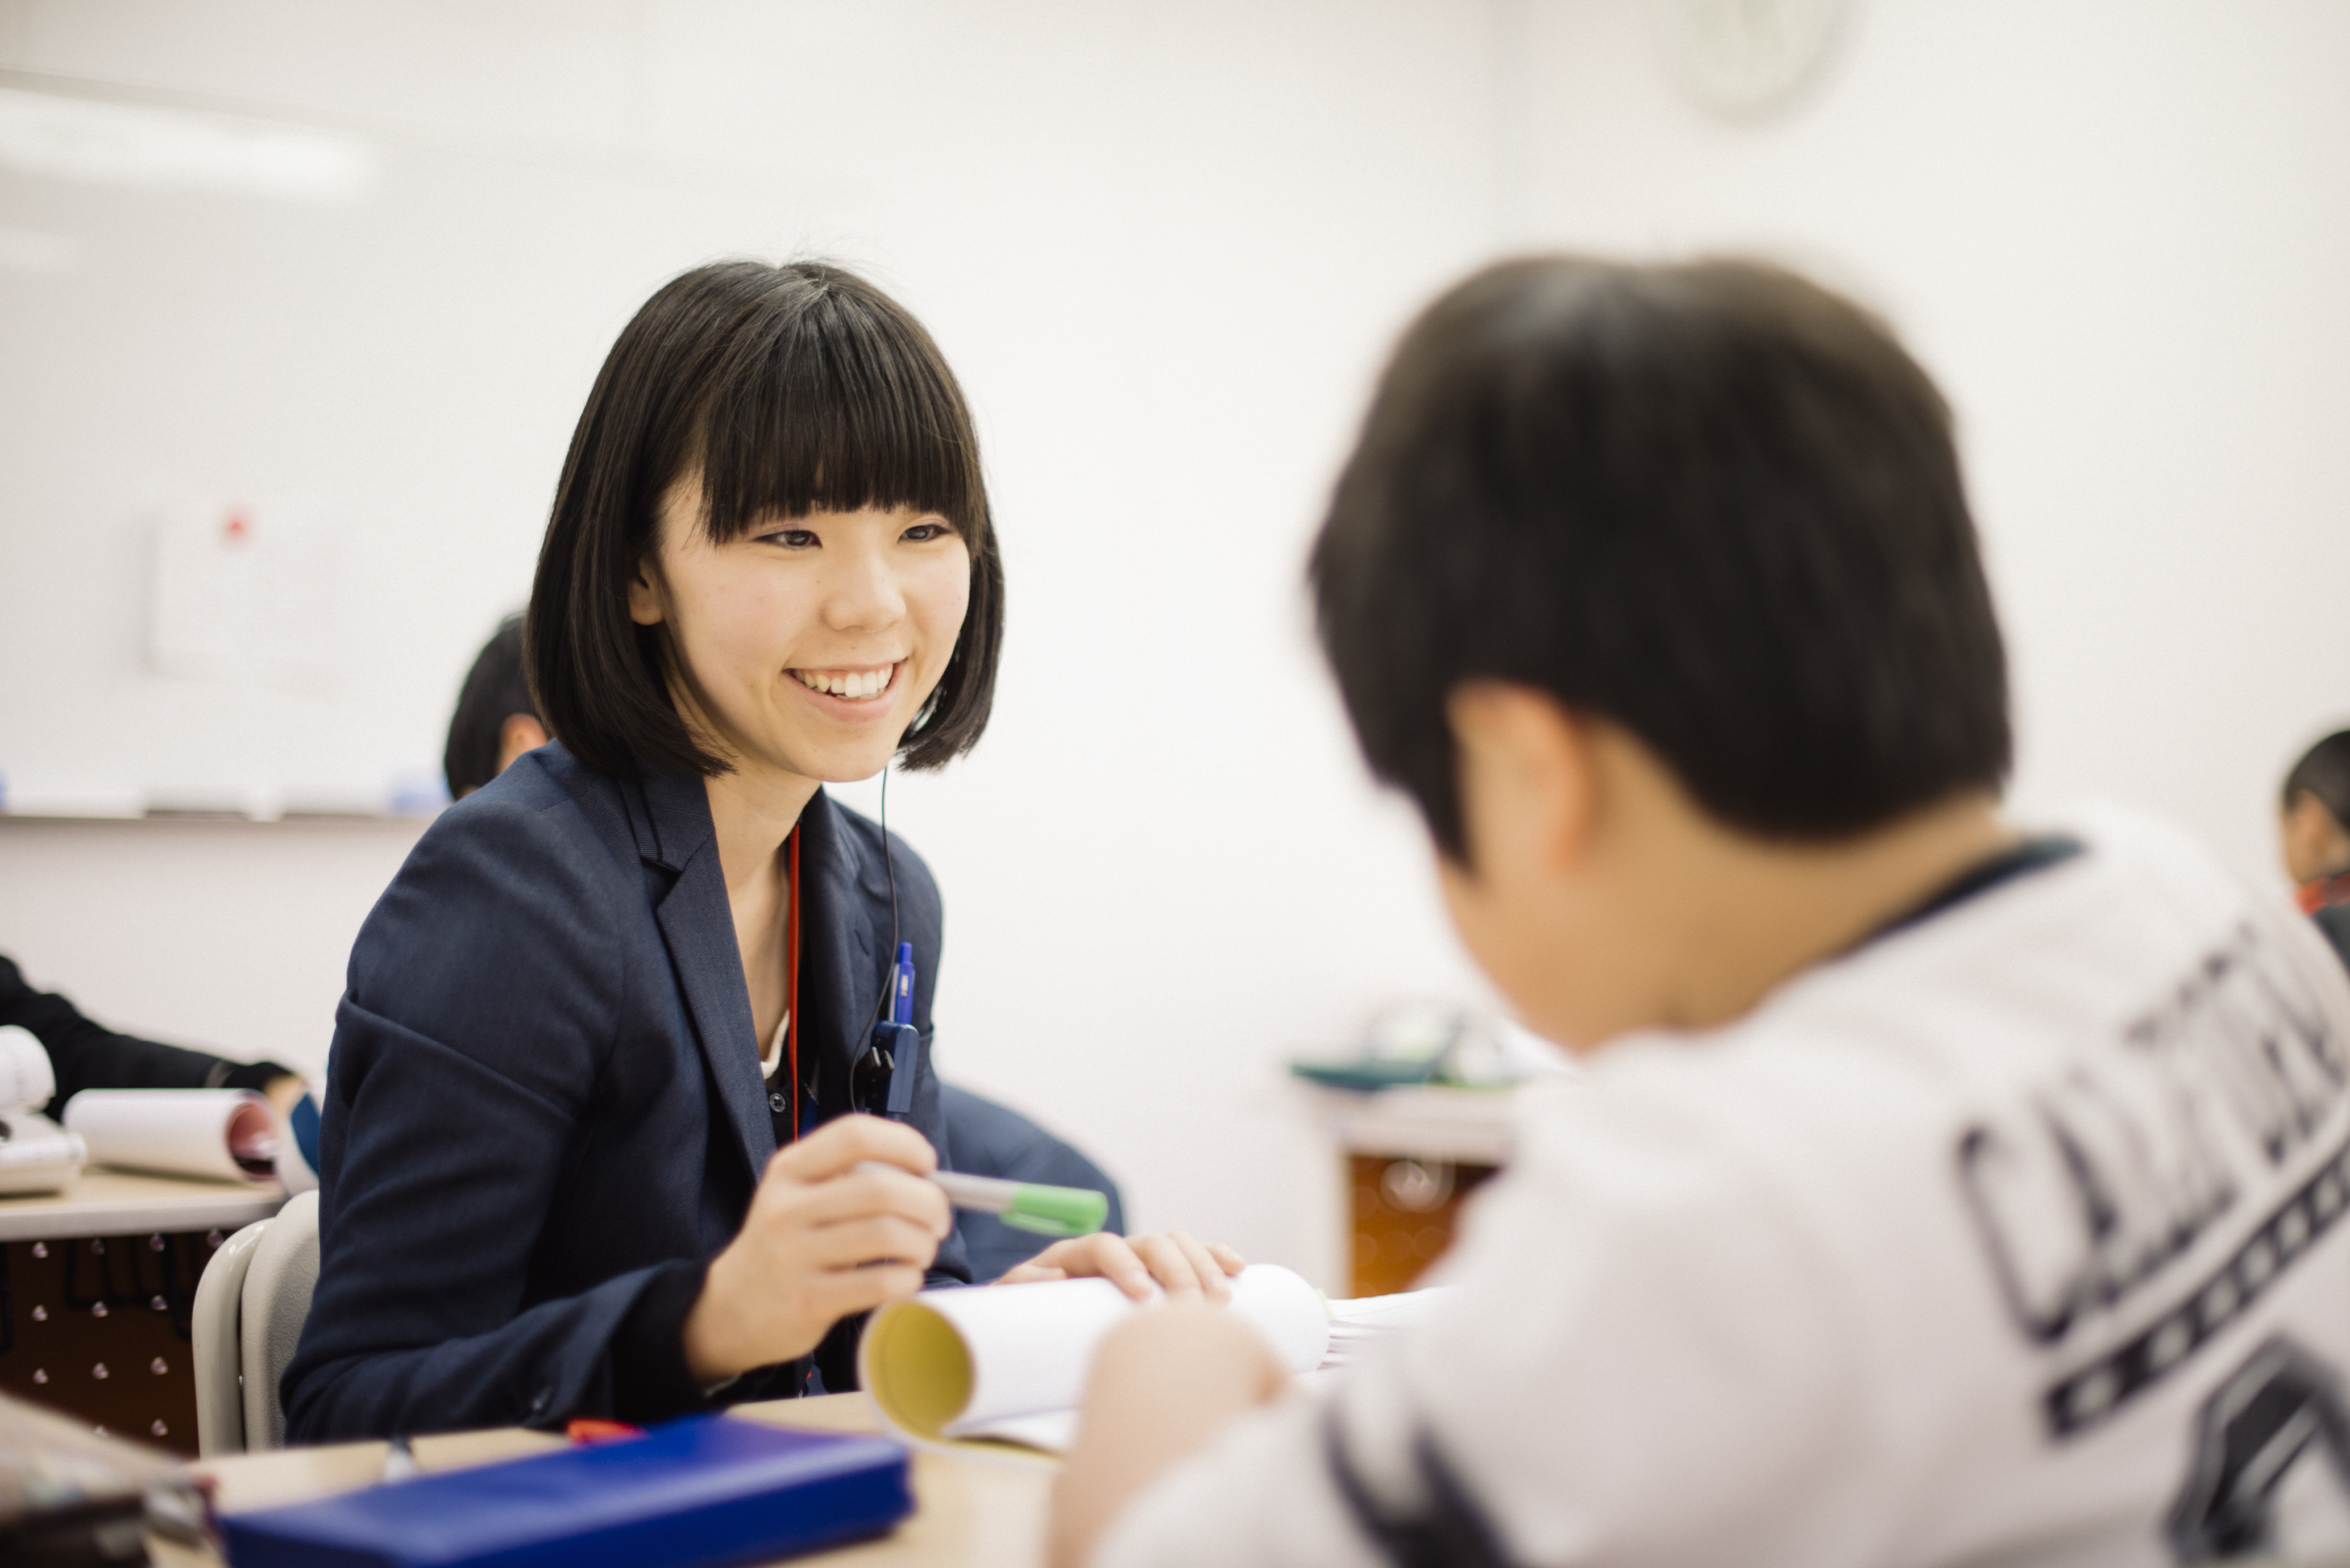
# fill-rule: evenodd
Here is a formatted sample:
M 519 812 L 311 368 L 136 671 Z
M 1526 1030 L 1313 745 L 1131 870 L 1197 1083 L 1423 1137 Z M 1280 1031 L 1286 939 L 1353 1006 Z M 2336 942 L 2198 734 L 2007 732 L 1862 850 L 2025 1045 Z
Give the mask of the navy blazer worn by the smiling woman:
M 820 790 L 799 827 L 801 1079 L 832 1119 L 888 976 L 888 870 L 881 830 Z M 921 1032 L 909 1121 L 945 1157 L 938 884 L 902 842 L 891 856 Z M 698 776 L 623 783 L 548 745 L 444 811 L 336 1009 L 289 1441 L 703 1406 L 679 1331 L 776 1152 L 759 1048 Z M 954 1237 L 931 1276 L 968 1279 Z M 853 1333 L 813 1359 L 827 1387 L 855 1387 Z M 721 1399 L 804 1392 L 808 1363 Z

